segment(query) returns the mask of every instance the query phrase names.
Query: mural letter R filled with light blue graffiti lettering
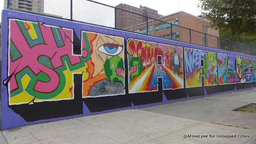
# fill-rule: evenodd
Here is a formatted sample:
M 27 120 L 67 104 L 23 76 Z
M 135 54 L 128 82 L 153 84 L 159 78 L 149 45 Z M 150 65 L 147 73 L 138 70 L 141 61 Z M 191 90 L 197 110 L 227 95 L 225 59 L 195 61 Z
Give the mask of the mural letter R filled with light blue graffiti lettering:
M 186 88 L 213 86 L 217 80 L 217 54 L 204 50 L 184 48 Z

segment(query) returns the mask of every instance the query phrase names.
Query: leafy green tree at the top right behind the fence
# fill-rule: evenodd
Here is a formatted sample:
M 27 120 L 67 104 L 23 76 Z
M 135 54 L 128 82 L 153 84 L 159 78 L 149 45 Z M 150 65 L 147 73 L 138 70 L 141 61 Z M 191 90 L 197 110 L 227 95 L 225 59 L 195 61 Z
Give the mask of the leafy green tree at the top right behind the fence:
M 200 0 L 202 14 L 220 37 L 256 47 L 256 0 Z

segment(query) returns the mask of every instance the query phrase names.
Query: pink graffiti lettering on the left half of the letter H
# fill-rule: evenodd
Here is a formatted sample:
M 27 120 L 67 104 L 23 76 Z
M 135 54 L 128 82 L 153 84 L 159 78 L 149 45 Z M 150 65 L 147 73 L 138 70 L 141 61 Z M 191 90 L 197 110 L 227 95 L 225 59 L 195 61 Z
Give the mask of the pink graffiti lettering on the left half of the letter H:
M 29 67 L 36 75 L 38 75 L 40 72 L 44 72 L 50 77 L 50 80 L 48 82 L 38 81 L 34 87 L 34 90 L 47 93 L 54 91 L 58 87 L 60 78 L 54 70 L 38 62 L 37 59 L 39 56 L 48 56 L 48 58 L 51 59 L 54 69 L 63 65 L 61 57 L 65 55 L 68 56 L 72 65 L 77 64 L 81 61 L 79 56 L 72 55 L 73 46 L 72 42 L 70 41 L 72 40 L 72 30 L 62 30 L 61 28 L 59 28 L 62 38 L 65 38 L 66 33 L 66 36 L 68 36 L 70 40 L 68 38 L 64 39 L 63 41 L 65 43 L 65 46 L 58 48 L 54 40 L 51 27 L 43 26 L 42 24 L 39 24 L 39 26 L 45 44 L 38 44 L 30 48 L 20 28 L 18 27 L 18 24 L 14 20 L 10 21 L 10 39 L 15 44 L 19 52 L 22 54 L 22 57 L 14 62 L 11 62 L 10 60 L 9 74 L 12 74 L 15 69 L 16 71 L 14 72 L 14 74 L 17 74 L 26 67 Z M 10 79 L 10 91 L 17 88 L 18 85 L 16 83 L 16 78 L 13 76 Z

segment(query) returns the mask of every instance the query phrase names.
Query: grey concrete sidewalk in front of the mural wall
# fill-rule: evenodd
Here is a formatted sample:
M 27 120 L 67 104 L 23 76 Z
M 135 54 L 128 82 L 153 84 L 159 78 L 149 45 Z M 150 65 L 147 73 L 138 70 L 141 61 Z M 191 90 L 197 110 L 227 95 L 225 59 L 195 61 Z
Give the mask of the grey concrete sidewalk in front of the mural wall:
M 231 111 L 256 102 L 255 92 L 246 90 L 4 130 L 0 144 L 5 139 L 8 144 L 256 144 L 256 114 Z M 250 138 L 185 139 L 184 134 L 242 134 Z

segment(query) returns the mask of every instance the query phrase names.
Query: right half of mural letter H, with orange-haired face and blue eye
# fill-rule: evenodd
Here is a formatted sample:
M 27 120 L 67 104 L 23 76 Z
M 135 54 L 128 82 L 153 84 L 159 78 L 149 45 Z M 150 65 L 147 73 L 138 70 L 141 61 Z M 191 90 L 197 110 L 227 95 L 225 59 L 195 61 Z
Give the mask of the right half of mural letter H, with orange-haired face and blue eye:
M 83 97 L 125 94 L 124 38 L 82 31 L 82 49 L 88 49 Z

